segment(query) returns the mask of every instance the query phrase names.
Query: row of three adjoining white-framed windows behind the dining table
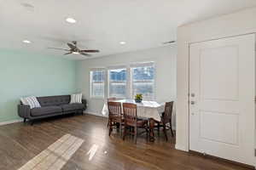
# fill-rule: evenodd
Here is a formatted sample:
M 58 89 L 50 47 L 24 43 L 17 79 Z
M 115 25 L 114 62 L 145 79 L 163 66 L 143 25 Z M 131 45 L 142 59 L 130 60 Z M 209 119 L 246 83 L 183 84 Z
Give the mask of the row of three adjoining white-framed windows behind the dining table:
M 154 75 L 154 62 L 92 69 L 90 97 L 134 99 L 143 94 L 144 100 L 154 100 Z

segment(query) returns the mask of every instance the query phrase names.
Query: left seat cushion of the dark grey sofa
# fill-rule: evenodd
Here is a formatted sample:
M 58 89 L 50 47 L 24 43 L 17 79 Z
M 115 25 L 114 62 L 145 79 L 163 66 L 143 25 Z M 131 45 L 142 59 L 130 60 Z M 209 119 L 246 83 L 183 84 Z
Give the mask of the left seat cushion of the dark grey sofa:
M 54 113 L 61 113 L 61 107 L 60 106 L 46 106 L 46 107 L 37 107 L 33 108 L 31 110 L 32 116 L 44 116 L 44 115 L 50 115 Z

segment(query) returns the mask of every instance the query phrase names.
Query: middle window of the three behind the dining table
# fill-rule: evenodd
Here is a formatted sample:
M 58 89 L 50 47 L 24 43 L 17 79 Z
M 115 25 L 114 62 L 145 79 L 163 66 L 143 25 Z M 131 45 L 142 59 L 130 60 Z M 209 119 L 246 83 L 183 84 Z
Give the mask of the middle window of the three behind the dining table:
M 126 69 L 108 70 L 108 97 L 125 98 Z

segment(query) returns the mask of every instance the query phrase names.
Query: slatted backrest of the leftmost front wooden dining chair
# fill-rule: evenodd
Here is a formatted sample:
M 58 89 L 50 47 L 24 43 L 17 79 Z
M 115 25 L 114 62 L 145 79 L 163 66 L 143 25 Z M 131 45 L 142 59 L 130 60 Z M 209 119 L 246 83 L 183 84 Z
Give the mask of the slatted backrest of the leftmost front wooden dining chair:
M 108 117 L 114 119 L 122 118 L 122 104 L 108 101 Z

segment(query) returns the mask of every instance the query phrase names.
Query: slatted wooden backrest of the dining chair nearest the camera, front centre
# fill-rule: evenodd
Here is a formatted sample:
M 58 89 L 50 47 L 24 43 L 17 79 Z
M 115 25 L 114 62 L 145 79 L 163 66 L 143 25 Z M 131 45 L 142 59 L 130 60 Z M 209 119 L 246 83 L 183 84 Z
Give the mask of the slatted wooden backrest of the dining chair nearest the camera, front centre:
M 125 117 L 125 124 L 129 126 L 137 125 L 137 105 L 123 103 L 123 114 Z

